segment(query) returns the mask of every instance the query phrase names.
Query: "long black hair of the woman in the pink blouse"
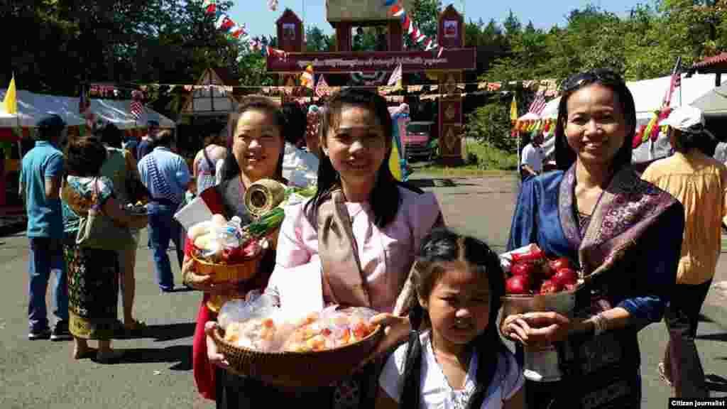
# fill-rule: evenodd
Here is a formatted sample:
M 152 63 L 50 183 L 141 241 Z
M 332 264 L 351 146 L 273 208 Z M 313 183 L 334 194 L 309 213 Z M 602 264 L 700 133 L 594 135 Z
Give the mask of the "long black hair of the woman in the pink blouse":
M 326 136 L 329 130 L 340 121 L 343 106 L 353 105 L 368 108 L 381 122 L 384 129 L 384 138 L 387 143 L 387 151 L 384 161 L 377 172 L 376 183 L 369 202 L 371 210 L 374 211 L 374 224 L 382 228 L 389 224 L 396 217 L 399 204 L 401 204 L 401 194 L 398 186 L 406 186 L 399 183 L 389 169 L 389 156 L 393 146 L 393 123 L 391 115 L 386 105 L 386 100 L 377 93 L 361 89 L 345 89 L 337 92 L 326 103 L 326 109 L 321 121 L 320 143 L 318 144 L 318 189 L 316 195 L 305 204 L 304 211 L 308 220 L 317 226 L 318 207 L 330 198 L 332 191 L 340 188 L 341 175 L 334 169 L 331 159 L 323 153 Z

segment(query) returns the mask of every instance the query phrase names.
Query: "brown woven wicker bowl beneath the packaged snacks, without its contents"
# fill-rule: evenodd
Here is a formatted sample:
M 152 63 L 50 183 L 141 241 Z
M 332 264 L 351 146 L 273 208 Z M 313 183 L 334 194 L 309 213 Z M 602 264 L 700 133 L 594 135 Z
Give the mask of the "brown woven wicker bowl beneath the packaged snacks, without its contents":
M 229 344 L 217 328 L 214 343 L 233 372 L 288 387 L 322 387 L 349 376 L 381 341 L 381 326 L 361 341 L 318 352 L 259 352 Z

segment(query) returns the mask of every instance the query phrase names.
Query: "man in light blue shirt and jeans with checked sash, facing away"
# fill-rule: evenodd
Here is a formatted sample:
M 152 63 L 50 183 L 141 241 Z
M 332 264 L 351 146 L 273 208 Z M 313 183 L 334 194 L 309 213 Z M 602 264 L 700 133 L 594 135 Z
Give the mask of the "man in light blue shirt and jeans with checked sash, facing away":
M 177 259 L 182 268 L 184 243 L 181 240 L 180 223 L 174 220 L 174 213 L 184 199 L 191 177 L 187 162 L 172 152 L 174 135 L 164 130 L 156 135 L 154 150 L 144 156 L 138 164 L 141 181 L 150 193 L 149 240 L 154 254 L 156 279 L 163 293 L 174 290 L 174 276 L 166 249 L 169 240 L 177 247 Z

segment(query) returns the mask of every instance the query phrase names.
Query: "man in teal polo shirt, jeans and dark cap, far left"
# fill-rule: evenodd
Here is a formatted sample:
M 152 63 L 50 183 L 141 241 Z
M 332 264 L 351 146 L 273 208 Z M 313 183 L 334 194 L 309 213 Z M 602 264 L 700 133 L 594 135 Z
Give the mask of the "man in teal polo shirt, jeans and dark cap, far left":
M 28 263 L 29 302 L 28 339 L 62 341 L 71 339 L 68 332 L 68 287 L 63 261 L 63 215 L 60 205 L 60 182 L 63 179 L 63 153 L 58 149 L 65 122 L 52 115 L 38 123 L 36 146 L 23 157 L 20 170 L 20 196 L 28 214 L 28 239 L 31 251 Z M 46 290 L 51 271 L 55 274 L 52 297 L 57 322 L 49 329 Z

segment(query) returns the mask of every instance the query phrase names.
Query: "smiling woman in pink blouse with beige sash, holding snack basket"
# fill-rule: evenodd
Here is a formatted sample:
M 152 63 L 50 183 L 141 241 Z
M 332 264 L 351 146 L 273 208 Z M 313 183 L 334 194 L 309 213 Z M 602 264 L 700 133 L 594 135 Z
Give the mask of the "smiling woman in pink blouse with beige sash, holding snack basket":
M 317 193 L 308 202 L 286 208 L 269 282 L 284 308 L 303 301 L 309 306 L 338 303 L 387 313 L 377 323 L 395 328 L 387 331 L 381 349 L 406 341 L 408 320 L 403 318 L 402 325 L 401 317 L 390 313 L 419 243 L 433 226 L 443 223 L 434 194 L 411 190 L 393 178 L 387 160 L 392 143 L 393 125 L 384 98 L 364 90 L 344 90 L 332 97 L 323 119 Z M 214 330 L 214 324 L 207 330 Z M 209 358 L 226 363 L 214 349 Z M 300 401 L 316 408 L 371 407 L 376 379 L 374 370 L 362 371 L 336 388 L 301 391 Z M 248 390 L 238 407 L 289 402 L 289 397 L 267 388 Z M 279 401 L 273 404 L 273 399 Z

